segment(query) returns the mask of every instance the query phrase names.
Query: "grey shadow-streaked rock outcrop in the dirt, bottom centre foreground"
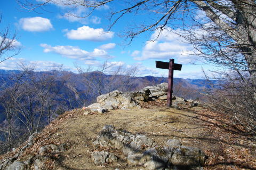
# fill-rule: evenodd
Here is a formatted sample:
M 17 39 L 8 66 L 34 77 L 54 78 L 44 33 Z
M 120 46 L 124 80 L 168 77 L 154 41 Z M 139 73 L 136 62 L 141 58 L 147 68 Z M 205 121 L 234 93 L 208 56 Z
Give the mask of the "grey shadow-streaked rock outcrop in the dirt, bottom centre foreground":
M 93 144 L 122 150 L 129 166 L 143 166 L 148 170 L 200 169 L 205 161 L 203 151 L 182 146 L 179 140 L 168 140 L 166 142 L 168 146 L 162 147 L 146 135 L 132 134 L 124 129 L 116 129 L 111 125 L 103 127 Z M 93 153 L 92 158 L 95 164 L 106 163 L 109 153 L 101 153 L 100 156 L 98 156 L 99 153 L 96 153 L 98 159 Z

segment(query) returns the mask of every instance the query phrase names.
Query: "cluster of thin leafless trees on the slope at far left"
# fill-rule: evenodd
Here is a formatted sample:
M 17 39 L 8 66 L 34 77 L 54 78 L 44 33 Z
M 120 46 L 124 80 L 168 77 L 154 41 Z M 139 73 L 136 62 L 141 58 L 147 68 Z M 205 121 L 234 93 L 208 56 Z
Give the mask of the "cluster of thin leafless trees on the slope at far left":
M 22 69 L 11 77 L 2 77 L 0 83 L 0 114 L 5 117 L 0 128 L 0 135 L 5 137 L 1 137 L 6 148 L 3 151 L 10 151 L 29 135 L 41 131 L 57 116 L 56 110 L 66 105 L 59 100 L 69 75 L 61 67 L 44 72 L 24 65 Z

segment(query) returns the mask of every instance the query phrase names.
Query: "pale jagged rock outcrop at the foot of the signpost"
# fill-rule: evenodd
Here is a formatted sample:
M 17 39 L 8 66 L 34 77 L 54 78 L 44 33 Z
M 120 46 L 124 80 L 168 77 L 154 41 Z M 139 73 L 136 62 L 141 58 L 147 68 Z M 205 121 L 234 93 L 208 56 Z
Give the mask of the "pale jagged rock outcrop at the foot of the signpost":
M 154 101 L 157 99 L 167 100 L 167 85 L 167 83 L 161 83 L 156 86 L 148 86 L 140 91 L 130 93 L 123 93 L 116 90 L 98 96 L 97 103 L 93 103 L 90 106 L 87 106 L 85 109 L 90 111 L 98 111 L 103 114 L 108 110 L 113 109 L 141 108 L 140 103 L 142 102 Z M 177 106 L 177 104 L 186 104 L 187 101 L 177 96 L 172 96 L 172 100 L 174 107 Z M 193 106 L 196 106 L 196 104 Z

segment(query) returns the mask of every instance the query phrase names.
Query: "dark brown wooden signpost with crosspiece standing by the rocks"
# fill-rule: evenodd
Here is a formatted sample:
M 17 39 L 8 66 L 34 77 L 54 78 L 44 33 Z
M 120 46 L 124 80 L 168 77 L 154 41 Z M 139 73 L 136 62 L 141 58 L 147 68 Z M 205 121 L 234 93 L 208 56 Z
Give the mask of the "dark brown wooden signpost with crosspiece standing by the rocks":
M 156 61 L 156 68 L 169 69 L 168 91 L 167 91 L 167 107 L 172 106 L 172 87 L 173 87 L 173 70 L 181 70 L 182 64 L 175 64 L 174 59 L 169 62 Z

